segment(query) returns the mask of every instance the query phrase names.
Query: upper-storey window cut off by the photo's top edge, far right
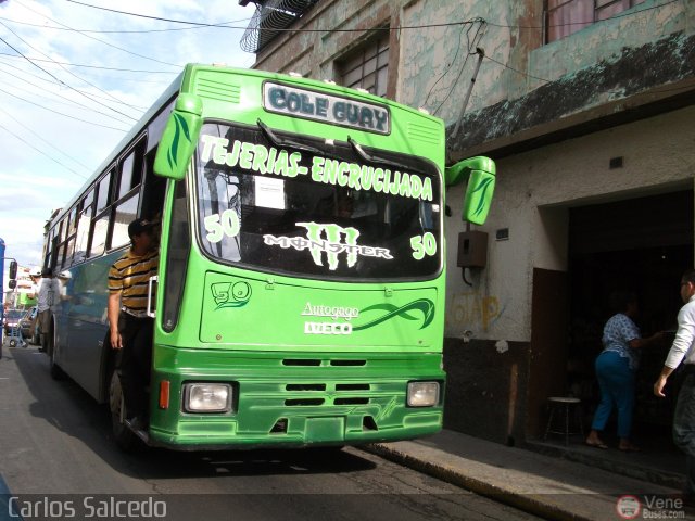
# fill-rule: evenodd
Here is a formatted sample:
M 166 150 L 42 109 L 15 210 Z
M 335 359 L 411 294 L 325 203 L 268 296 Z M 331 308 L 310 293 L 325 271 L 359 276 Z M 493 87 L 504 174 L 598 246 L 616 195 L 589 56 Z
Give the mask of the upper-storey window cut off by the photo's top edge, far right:
M 547 0 L 545 42 L 559 40 L 645 0 Z

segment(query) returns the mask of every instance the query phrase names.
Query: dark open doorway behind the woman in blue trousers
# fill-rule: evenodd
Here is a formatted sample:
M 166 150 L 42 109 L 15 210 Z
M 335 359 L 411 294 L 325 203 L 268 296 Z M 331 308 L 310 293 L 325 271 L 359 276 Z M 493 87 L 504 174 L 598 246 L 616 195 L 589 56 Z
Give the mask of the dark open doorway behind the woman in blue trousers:
M 585 404 L 586 424 L 599 399 L 594 360 L 603 350 L 603 327 L 611 316 L 610 295 L 637 295 L 635 320 L 643 336 L 674 331 L 683 305 L 680 277 L 693 267 L 693 191 L 631 199 L 570 209 L 568 387 Z M 634 431 L 669 434 L 678 378 L 667 398 L 652 386 L 673 340 L 644 350 L 636 377 Z M 609 424 L 607 431 L 615 432 Z

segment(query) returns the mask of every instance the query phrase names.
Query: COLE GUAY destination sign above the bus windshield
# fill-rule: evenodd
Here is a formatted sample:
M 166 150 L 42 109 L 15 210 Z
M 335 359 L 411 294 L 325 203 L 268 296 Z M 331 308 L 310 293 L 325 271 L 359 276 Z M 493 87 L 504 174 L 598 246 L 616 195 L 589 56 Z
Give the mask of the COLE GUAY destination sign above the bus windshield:
M 348 98 L 298 89 L 266 81 L 263 85 L 263 107 L 268 112 L 305 117 L 378 134 L 389 134 L 389 109 L 376 103 L 363 103 Z

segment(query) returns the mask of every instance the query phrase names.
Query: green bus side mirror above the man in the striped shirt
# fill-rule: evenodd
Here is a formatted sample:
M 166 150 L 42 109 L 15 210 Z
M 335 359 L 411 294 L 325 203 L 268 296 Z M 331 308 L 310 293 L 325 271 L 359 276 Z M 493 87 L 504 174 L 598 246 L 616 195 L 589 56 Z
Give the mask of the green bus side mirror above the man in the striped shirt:
M 154 157 L 154 173 L 180 181 L 186 177 L 203 125 L 203 102 L 194 94 L 182 93 L 164 127 Z

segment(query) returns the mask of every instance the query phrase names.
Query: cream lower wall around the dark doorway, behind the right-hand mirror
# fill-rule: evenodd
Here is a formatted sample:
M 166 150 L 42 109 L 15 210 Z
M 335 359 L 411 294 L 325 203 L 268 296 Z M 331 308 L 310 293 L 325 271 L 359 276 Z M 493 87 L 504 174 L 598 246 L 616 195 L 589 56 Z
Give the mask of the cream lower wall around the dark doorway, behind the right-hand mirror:
M 488 268 L 466 285 L 460 270 L 447 280 L 446 335 L 529 342 L 533 268 L 567 269 L 567 208 L 673 191 L 695 177 L 695 107 L 623 125 L 497 162 L 495 201 L 486 225 Z M 611 157 L 623 167 L 609 169 Z M 456 265 L 463 188 L 447 192 L 447 262 Z M 496 241 L 495 230 L 509 239 Z

